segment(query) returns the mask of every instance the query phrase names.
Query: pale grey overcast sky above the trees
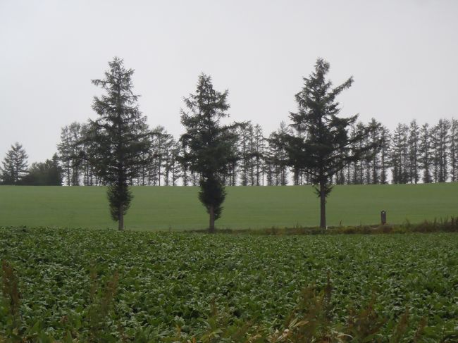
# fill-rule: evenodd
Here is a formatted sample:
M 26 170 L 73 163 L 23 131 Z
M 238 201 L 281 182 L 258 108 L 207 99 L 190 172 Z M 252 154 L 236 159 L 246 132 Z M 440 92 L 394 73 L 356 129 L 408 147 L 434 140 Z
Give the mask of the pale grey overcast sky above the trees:
M 0 160 L 14 142 L 51 158 L 61 127 L 97 118 L 91 80 L 114 56 L 150 127 L 175 137 L 200 73 L 228 89 L 230 120 L 277 130 L 316 58 L 333 85 L 354 77 L 340 116 L 458 118 L 457 18 L 455 0 L 0 0 Z

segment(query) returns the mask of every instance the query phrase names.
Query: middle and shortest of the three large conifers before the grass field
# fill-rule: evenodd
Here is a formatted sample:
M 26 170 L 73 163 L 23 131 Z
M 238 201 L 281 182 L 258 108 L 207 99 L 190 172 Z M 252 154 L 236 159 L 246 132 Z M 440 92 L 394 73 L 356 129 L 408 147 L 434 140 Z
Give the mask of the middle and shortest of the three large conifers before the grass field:
M 211 77 L 199 75 L 195 94 L 185 98 L 189 112 L 181 110 L 186 132 L 180 137 L 182 161 L 199 175 L 199 200 L 209 213 L 209 231 L 215 232 L 215 220 L 221 217 L 225 199 L 224 175 L 235 156 L 237 124 L 222 125 L 228 117 L 228 91 L 213 89 Z

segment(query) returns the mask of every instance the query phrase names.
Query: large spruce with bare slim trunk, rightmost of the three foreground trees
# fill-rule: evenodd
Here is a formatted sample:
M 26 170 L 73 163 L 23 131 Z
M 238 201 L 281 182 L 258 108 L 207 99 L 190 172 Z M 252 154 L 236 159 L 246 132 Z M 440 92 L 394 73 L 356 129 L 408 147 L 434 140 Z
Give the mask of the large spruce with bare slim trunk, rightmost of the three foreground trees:
M 333 175 L 348 163 L 359 161 L 372 154 L 377 144 L 357 144 L 369 135 L 369 127 L 363 127 L 353 137 L 348 129 L 357 116 L 339 118 L 336 97 L 352 85 L 353 79 L 332 88 L 326 80 L 329 63 L 318 58 L 315 70 L 307 78 L 304 87 L 296 94 L 297 113 L 290 113 L 291 126 L 296 135 L 290 135 L 290 165 L 300 168 L 311 176 L 316 194 L 320 198 L 320 227 L 326 227 L 326 197 L 331 192 Z M 351 146 L 358 146 L 352 149 Z

